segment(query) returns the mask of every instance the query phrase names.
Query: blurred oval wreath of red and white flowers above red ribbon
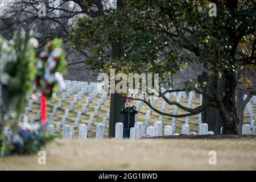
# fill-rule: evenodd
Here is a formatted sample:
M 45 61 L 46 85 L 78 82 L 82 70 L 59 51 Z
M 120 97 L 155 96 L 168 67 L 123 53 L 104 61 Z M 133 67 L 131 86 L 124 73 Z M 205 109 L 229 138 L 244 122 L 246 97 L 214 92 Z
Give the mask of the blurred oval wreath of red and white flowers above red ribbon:
M 52 93 L 56 92 L 56 83 L 59 84 L 60 89 L 65 89 L 62 74 L 65 73 L 67 61 L 62 47 L 61 39 L 53 39 L 42 48 L 36 61 L 38 68 L 36 87 L 43 91 L 47 98 L 51 98 Z

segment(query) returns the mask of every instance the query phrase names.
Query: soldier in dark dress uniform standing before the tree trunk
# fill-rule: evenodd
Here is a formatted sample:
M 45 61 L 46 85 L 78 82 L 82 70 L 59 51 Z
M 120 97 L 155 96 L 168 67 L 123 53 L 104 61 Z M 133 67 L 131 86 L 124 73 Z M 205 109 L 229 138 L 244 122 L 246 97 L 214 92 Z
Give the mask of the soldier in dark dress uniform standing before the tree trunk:
M 137 107 L 133 106 L 133 98 L 126 97 L 125 105 L 120 110 L 123 115 L 123 137 L 130 138 L 130 129 L 135 124 L 135 114 L 138 113 Z

